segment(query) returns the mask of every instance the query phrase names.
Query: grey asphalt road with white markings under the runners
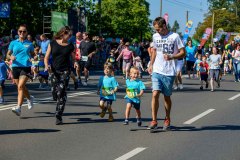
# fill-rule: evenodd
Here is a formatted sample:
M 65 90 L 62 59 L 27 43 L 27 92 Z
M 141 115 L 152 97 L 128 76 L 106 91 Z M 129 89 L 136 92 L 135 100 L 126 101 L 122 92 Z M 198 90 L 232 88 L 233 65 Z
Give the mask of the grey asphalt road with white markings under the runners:
M 172 95 L 172 130 L 150 133 L 138 129 L 135 111 L 131 123 L 122 124 L 125 112 L 124 80 L 113 103 L 114 122 L 99 117 L 96 94 L 98 76 L 88 87 L 68 92 L 64 124 L 55 125 L 55 102 L 50 91 L 28 83 L 36 97 L 35 107 L 23 107 L 22 116 L 10 108 L 17 99 L 16 87 L 7 84 L 6 104 L 0 106 L 0 160 L 239 160 L 240 83 L 223 78 L 215 92 L 200 91 L 199 80 L 184 78 L 184 89 Z M 151 83 L 142 97 L 143 126 L 151 121 Z M 163 97 L 160 98 L 159 126 L 163 124 Z

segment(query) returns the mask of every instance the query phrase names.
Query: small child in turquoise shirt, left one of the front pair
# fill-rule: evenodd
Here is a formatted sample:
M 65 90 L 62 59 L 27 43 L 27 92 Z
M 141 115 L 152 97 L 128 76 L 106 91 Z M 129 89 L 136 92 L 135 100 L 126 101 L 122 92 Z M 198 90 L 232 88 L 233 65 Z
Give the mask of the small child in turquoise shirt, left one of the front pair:
M 112 72 L 113 66 L 111 63 L 104 64 L 105 75 L 100 77 L 97 91 L 97 93 L 100 94 L 99 107 L 102 109 L 100 117 L 103 118 L 108 110 L 109 122 L 113 121 L 112 102 L 116 101 L 116 92 L 118 87 L 118 82 L 116 81 L 115 77 L 111 75 Z M 107 103 L 106 106 L 105 103 Z

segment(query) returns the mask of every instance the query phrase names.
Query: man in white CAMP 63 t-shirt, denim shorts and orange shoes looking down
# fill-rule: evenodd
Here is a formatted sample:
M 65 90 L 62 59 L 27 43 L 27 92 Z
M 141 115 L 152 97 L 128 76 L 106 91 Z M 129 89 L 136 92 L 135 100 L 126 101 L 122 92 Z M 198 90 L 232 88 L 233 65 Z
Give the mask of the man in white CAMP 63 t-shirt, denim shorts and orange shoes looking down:
M 166 117 L 163 130 L 170 129 L 170 111 L 172 86 L 176 75 L 177 59 L 185 56 L 184 45 L 177 33 L 168 31 L 166 21 L 157 17 L 153 26 L 156 33 L 153 35 L 154 51 L 151 56 L 149 73 L 152 73 L 152 122 L 149 129 L 157 128 L 157 112 L 160 93 L 164 95 Z

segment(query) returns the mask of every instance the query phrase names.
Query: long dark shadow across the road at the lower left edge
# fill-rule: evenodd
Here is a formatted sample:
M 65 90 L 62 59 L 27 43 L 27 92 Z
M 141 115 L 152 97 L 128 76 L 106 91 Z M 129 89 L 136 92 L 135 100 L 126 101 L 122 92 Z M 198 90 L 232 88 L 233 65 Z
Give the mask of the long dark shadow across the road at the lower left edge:
M 49 133 L 49 132 L 59 132 L 59 131 L 61 130 L 56 130 L 56 129 L 0 130 L 0 135 L 22 134 L 22 133 Z

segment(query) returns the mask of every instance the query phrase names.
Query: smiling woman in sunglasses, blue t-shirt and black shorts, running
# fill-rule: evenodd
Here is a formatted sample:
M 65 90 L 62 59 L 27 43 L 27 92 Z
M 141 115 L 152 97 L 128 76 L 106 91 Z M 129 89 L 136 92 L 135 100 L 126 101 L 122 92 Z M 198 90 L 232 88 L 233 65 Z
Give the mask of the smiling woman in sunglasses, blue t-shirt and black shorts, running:
M 21 115 L 21 106 L 25 97 L 27 98 L 28 109 L 33 108 L 34 97 L 29 95 L 25 86 L 31 73 L 31 54 L 34 51 L 32 42 L 26 39 L 27 34 L 27 26 L 25 24 L 20 25 L 18 28 L 19 38 L 10 43 L 7 53 L 13 62 L 13 79 L 18 88 L 17 106 L 12 108 L 17 116 Z

